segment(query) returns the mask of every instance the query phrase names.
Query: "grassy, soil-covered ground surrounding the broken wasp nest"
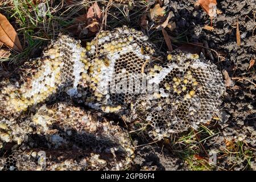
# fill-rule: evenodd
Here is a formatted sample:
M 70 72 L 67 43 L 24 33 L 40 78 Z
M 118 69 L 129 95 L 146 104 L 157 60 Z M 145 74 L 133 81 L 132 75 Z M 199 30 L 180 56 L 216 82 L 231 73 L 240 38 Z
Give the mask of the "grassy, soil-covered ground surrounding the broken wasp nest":
M 122 3 L 111 5 L 106 29 L 126 24 L 141 30 L 140 17 L 155 6 L 154 0 L 147 2 L 151 6 L 145 1 L 130 1 L 128 6 Z M 169 22 L 176 23 L 174 30 L 166 28 L 166 31 L 171 35 L 174 49 L 187 43 L 204 43 L 206 46 L 207 42 L 212 50 L 204 49 L 205 56 L 224 71 L 224 75 L 226 71 L 232 78 L 231 82 L 227 82 L 220 115 L 198 131 L 188 129 L 185 133 L 171 135 L 156 143 L 151 143 L 143 131 L 133 132 L 128 128 L 134 145 L 138 146 L 131 169 L 256 170 L 255 65 L 249 69 L 250 61 L 256 59 L 255 3 L 253 0 L 217 1 L 220 11 L 213 19 L 212 31 L 203 28 L 210 24 L 209 16 L 202 9 L 196 10 L 194 3 L 192 0 L 166 1 L 166 14 L 172 12 Z M 37 5 L 31 7 L 21 1 L 4 3 L 0 13 L 13 24 L 24 51 L 19 54 L 12 52 L 9 58 L 2 59 L 2 72 L 11 72 L 23 60 L 38 57 L 43 46 L 60 30 L 81 39 L 82 43 L 92 39 L 94 35 L 86 34 L 86 31 L 79 31 L 78 34 L 65 28 L 73 23 L 73 18 L 84 14 L 85 7 L 90 5 L 89 1 L 69 6 L 55 1 L 46 6 L 47 18 L 36 18 L 38 12 L 33 7 Z M 107 3 L 98 1 L 98 5 L 103 10 Z M 237 20 L 241 46 L 237 46 L 236 42 Z M 154 20 L 148 20 L 148 27 L 155 24 Z M 156 28 L 143 31 L 159 51 L 167 51 L 162 31 Z

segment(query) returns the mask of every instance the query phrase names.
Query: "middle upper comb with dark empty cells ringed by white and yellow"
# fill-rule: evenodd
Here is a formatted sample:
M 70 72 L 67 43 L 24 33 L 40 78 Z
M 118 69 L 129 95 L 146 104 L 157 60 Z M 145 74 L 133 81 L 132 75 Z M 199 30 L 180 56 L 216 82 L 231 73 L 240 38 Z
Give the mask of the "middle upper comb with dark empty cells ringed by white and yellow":
M 141 83 L 142 65 L 155 51 L 147 42 L 147 36 L 126 26 L 101 31 L 97 38 L 86 46 L 91 63 L 88 68 L 90 94 L 85 104 L 113 113 L 139 94 L 136 85 Z M 134 83 L 132 86 L 127 82 L 129 79 Z

